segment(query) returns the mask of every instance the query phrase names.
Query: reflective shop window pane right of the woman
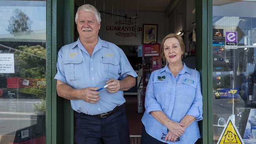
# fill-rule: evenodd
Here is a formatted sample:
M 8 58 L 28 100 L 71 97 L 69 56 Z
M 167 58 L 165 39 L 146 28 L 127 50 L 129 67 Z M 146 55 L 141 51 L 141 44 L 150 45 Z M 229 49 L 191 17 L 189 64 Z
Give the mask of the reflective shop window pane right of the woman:
M 256 2 L 213 0 L 213 143 L 221 140 L 228 118 L 245 144 L 256 143 L 256 10 L 252 7 Z M 227 31 L 237 32 L 237 48 L 227 47 Z M 226 132 L 224 136 L 230 134 Z

